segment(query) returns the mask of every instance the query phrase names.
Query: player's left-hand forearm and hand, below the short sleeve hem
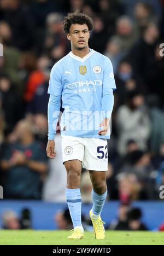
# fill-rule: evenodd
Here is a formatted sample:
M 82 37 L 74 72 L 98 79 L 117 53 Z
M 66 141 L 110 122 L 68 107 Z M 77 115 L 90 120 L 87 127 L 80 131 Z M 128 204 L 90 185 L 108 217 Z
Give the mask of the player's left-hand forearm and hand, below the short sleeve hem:
M 60 113 L 61 95 L 50 94 L 48 103 L 48 144 L 46 146 L 46 155 L 49 158 L 55 158 L 55 135 L 58 117 Z

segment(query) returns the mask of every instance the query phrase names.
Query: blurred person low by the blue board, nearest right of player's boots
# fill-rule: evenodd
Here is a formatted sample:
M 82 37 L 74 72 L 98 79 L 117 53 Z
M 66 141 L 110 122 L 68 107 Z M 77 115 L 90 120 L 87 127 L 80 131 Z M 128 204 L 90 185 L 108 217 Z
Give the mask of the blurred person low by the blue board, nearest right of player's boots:
M 118 217 L 113 220 L 108 229 L 112 230 L 128 230 L 128 220 L 127 220 L 127 212 L 130 210 L 130 205 L 128 203 L 120 203 L 118 209 Z

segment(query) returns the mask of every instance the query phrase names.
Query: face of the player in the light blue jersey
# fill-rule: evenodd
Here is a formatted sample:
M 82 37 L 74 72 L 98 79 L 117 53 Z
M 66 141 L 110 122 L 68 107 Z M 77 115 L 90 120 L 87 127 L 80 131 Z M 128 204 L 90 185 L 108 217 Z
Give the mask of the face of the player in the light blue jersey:
M 72 24 L 67 34 L 68 40 L 74 49 L 83 50 L 88 47 L 90 32 L 86 24 Z

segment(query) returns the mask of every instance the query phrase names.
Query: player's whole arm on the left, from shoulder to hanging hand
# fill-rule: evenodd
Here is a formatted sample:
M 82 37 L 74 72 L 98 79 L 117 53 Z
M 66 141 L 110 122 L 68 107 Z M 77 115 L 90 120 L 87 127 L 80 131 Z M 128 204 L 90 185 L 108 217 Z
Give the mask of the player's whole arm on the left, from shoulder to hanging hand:
M 48 103 L 48 144 L 46 146 L 46 155 L 49 158 L 55 158 L 55 135 L 56 125 L 60 113 L 60 102 L 62 95 L 62 71 L 60 65 L 54 65 L 50 74 L 48 94 L 50 94 Z

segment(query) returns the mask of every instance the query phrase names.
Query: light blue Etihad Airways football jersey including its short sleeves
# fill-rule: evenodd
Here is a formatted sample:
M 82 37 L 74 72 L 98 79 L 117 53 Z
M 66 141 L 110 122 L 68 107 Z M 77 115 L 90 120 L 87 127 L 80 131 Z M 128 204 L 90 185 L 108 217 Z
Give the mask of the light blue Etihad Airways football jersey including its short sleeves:
M 62 96 L 61 135 L 109 138 L 98 135 L 105 117 L 102 97 L 115 90 L 113 67 L 108 57 L 90 50 L 82 59 L 72 52 L 55 63 L 48 93 Z

